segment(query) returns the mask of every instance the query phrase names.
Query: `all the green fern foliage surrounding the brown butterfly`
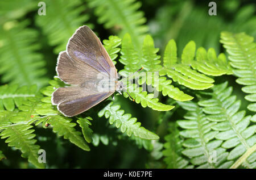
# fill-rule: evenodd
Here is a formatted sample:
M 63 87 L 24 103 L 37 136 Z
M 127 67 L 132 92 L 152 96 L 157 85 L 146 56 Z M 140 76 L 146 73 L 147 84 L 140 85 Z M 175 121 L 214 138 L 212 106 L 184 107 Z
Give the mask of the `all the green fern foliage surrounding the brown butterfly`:
M 0 2 L 1 167 L 256 168 L 250 2 L 217 2 L 217 16 L 192 0 L 44 2 L 45 16 L 36 1 Z M 51 96 L 69 85 L 52 76 L 82 25 L 129 76 L 121 80 L 129 94 L 68 118 Z

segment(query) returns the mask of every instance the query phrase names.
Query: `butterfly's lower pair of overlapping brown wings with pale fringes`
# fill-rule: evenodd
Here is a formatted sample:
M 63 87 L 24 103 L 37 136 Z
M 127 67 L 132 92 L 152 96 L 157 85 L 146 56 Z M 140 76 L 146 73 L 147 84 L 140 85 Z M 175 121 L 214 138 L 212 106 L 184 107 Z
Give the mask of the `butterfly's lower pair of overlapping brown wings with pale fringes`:
M 71 117 L 96 106 L 112 95 L 114 91 L 92 91 L 85 87 L 59 87 L 52 94 L 52 104 L 65 116 Z

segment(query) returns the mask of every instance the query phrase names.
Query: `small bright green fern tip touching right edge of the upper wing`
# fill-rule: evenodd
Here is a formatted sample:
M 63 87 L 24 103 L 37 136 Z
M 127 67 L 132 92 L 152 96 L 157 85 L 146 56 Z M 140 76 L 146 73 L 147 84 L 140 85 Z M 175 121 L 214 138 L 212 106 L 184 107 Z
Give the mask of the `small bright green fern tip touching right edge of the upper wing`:
M 115 58 L 117 58 L 117 53 L 120 51 L 118 46 L 121 44 L 121 39 L 118 36 L 109 36 L 109 39 L 103 40 L 103 45 L 108 52 L 110 58 L 112 59 L 114 65 L 117 64 Z

